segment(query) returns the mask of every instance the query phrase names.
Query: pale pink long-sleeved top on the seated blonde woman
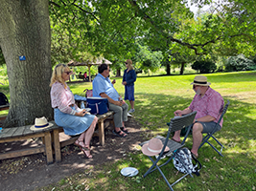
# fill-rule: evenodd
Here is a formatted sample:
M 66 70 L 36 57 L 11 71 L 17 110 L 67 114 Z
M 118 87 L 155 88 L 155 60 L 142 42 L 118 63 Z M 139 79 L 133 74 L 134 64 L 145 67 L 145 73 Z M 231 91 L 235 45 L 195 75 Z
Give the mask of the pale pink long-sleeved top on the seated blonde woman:
M 60 112 L 75 115 L 76 112 L 80 112 L 81 109 L 75 104 L 74 95 L 70 91 L 70 88 L 64 88 L 64 85 L 60 82 L 55 82 L 51 89 L 52 108 L 58 107 Z M 73 110 L 70 105 L 75 104 L 76 110 Z

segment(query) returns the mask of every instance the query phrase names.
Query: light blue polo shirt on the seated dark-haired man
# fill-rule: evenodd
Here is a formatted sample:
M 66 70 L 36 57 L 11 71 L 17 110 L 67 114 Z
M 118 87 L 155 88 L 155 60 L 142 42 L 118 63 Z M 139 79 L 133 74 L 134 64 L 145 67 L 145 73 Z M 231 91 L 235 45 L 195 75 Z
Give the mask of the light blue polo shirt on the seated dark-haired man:
M 113 87 L 110 79 L 102 74 L 97 74 L 96 77 L 93 79 L 92 90 L 93 96 L 101 97 L 100 94 L 105 93 L 113 100 L 118 101 L 118 92 Z

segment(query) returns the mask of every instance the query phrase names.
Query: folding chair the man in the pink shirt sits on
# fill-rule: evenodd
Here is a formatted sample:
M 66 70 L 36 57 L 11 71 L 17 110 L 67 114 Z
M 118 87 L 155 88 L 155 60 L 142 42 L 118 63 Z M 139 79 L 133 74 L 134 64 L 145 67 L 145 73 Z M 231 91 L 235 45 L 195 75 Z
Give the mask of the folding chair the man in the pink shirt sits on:
M 220 124 L 221 118 L 222 118 L 222 117 L 224 116 L 224 114 L 226 113 L 229 103 L 230 103 L 229 100 L 227 100 L 227 103 L 225 104 L 225 106 L 224 106 L 224 108 L 223 108 L 223 110 L 222 110 L 222 112 L 221 112 L 221 117 L 219 118 L 218 124 Z M 222 152 L 222 149 L 225 148 L 225 147 L 221 144 L 221 142 L 220 142 L 217 138 L 215 138 L 215 137 L 213 136 L 214 134 L 215 134 L 215 132 L 207 133 L 207 135 L 206 135 L 204 138 L 202 138 L 202 141 L 201 141 L 201 144 L 200 144 L 199 148 L 200 148 L 204 143 L 207 142 L 217 153 L 219 153 L 219 155 L 220 155 L 221 157 L 223 157 L 223 155 L 221 154 L 221 152 Z M 217 148 L 215 148 L 215 146 L 212 145 L 212 144 L 209 142 L 209 138 L 215 139 L 215 141 L 221 146 L 221 150 L 220 150 L 220 151 L 219 151 Z M 199 149 L 199 148 L 198 148 L 198 149 Z

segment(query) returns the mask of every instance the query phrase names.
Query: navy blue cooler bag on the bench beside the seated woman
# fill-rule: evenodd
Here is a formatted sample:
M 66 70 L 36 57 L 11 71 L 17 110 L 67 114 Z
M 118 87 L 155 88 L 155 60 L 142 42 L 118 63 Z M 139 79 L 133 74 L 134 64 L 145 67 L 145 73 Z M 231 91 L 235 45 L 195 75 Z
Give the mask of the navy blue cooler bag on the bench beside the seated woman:
M 108 112 L 108 100 L 104 97 L 87 97 L 87 107 L 91 108 L 92 115 L 103 115 Z

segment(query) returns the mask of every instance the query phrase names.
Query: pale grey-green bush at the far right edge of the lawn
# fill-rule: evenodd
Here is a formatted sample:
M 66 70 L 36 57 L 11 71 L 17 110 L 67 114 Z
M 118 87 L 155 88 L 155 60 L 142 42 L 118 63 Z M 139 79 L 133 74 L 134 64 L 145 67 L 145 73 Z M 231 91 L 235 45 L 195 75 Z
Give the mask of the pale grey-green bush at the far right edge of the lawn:
M 255 69 L 256 64 L 244 54 L 230 56 L 225 65 L 226 71 L 249 71 Z

